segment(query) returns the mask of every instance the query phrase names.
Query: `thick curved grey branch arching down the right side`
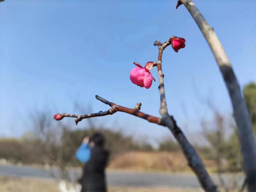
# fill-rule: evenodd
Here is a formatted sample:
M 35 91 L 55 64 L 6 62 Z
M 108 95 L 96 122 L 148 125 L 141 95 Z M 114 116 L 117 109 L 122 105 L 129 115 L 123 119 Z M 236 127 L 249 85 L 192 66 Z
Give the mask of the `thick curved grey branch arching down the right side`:
M 246 102 L 241 94 L 239 83 L 233 72 L 230 61 L 214 30 L 209 26 L 192 0 L 178 0 L 177 7 L 184 4 L 190 15 L 203 33 L 215 57 L 230 94 L 236 125 L 239 129 L 241 151 L 244 157 L 244 171 L 247 175 L 249 192 L 256 191 L 256 141 L 253 136 L 250 115 Z M 176 9 L 177 9 L 176 7 Z

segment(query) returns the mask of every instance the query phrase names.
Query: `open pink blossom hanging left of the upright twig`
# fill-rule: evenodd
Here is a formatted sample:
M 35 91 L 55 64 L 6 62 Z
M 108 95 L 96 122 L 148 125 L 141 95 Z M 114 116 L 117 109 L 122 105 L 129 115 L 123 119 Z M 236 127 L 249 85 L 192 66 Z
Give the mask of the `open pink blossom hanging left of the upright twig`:
M 137 66 L 131 70 L 130 79 L 133 84 L 137 84 L 140 87 L 145 87 L 149 89 L 152 85 L 152 81 L 156 81 L 154 77 L 152 77 L 149 70 L 153 67 L 153 62 L 147 62 L 145 67 L 142 67 L 140 64 L 134 62 Z

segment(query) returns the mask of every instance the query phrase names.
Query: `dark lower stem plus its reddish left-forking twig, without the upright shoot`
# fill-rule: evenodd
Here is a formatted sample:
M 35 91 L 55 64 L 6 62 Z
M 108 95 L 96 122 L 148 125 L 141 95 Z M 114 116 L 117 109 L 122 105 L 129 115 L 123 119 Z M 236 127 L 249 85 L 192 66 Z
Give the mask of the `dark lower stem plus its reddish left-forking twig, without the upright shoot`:
M 189 141 L 186 139 L 185 135 L 183 132 L 180 130 L 180 128 L 176 125 L 176 122 L 172 116 L 169 116 L 167 113 L 165 116 L 163 116 L 164 120 L 155 117 L 155 116 L 150 116 L 148 114 L 145 114 L 143 112 L 140 112 L 140 107 L 141 103 L 137 103 L 137 105 L 134 107 L 134 109 L 131 108 L 125 108 L 120 105 L 116 105 L 113 102 L 109 102 L 108 100 L 97 96 L 96 99 L 99 101 L 105 103 L 106 105 L 111 106 L 111 108 L 108 111 L 99 111 L 98 113 L 91 113 L 91 114 L 86 114 L 86 115 L 73 115 L 73 114 L 67 114 L 63 113 L 61 115 L 61 119 L 64 117 L 75 117 L 76 120 L 76 125 L 78 122 L 80 122 L 82 119 L 87 119 L 87 118 L 92 118 L 96 116 L 106 116 L 106 115 L 112 115 L 113 113 L 116 113 L 117 111 L 124 112 L 124 113 L 129 113 L 131 115 L 140 117 L 142 119 L 147 120 L 148 122 L 152 122 L 158 125 L 166 126 L 168 127 L 172 133 L 174 134 L 175 138 L 177 139 L 178 143 L 180 143 L 180 146 L 183 149 L 183 154 L 185 155 L 189 166 L 194 170 L 196 175 L 198 176 L 198 179 L 204 189 L 206 191 L 216 191 L 216 186 L 212 182 L 211 178 L 209 177 L 207 171 L 204 168 L 204 164 L 201 161 L 200 157 L 198 154 L 195 152 L 195 149 L 192 147 L 192 145 L 189 143 Z M 167 111 L 167 109 L 166 109 Z M 208 190 L 209 189 L 209 190 Z

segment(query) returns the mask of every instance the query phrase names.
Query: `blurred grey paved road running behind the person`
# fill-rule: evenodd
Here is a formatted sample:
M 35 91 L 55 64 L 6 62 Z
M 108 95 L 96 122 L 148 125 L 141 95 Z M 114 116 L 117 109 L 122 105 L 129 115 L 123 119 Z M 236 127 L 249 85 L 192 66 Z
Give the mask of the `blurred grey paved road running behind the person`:
M 55 170 L 39 169 L 34 167 L 0 166 L 0 175 L 15 177 L 59 177 Z M 55 175 L 55 176 L 53 176 Z M 81 175 L 79 171 L 70 171 L 70 177 L 75 180 Z M 213 180 L 217 181 L 216 175 Z M 194 175 L 165 174 L 165 173 L 137 173 L 137 172 L 107 172 L 108 185 L 111 186 L 138 186 L 138 187 L 167 187 L 167 188 L 200 188 L 197 178 Z M 242 183 L 242 178 L 239 183 Z

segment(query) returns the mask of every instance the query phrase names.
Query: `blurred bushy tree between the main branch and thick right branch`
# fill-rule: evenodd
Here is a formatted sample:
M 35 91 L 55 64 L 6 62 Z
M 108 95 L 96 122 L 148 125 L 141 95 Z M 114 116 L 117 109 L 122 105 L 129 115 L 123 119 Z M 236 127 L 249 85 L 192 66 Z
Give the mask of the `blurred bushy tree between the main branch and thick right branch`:
M 234 125 L 225 124 L 225 118 L 217 111 L 214 111 L 215 118 L 213 122 L 202 122 L 203 134 L 209 142 L 209 158 L 215 160 L 217 165 L 218 179 L 226 192 L 236 191 L 239 178 L 233 175 L 232 181 L 227 183 L 222 177 L 223 172 L 241 172 L 242 156 L 239 145 L 238 129 Z M 229 128 L 233 132 L 225 138 Z

